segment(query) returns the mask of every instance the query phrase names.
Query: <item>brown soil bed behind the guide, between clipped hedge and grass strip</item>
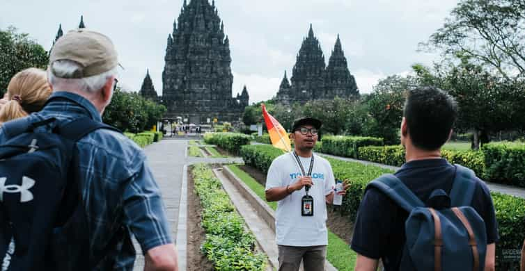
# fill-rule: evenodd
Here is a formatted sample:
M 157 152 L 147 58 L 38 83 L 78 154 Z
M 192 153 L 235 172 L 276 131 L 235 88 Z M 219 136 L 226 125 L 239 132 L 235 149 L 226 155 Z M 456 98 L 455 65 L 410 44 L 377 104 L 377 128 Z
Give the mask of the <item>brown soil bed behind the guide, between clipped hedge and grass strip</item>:
M 250 165 L 240 166 L 244 172 L 248 173 L 253 179 L 256 179 L 258 183 L 265 186 L 266 184 L 266 174 L 260 172 L 260 170 Z M 338 207 L 335 207 L 338 208 Z M 352 240 L 352 233 L 354 231 L 354 225 L 350 222 L 350 217 L 347 215 L 340 215 L 338 210 L 334 210 L 333 206 L 327 206 L 327 227 L 333 233 L 336 233 L 339 238 L 343 239 L 345 243 L 350 244 Z

